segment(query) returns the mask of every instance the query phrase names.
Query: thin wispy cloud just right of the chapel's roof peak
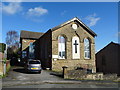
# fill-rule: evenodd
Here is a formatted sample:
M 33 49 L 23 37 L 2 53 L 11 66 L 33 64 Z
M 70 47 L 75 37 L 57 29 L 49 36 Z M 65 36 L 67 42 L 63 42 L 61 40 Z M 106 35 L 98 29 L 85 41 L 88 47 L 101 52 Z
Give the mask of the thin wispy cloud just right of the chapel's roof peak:
M 88 15 L 85 17 L 86 22 L 88 23 L 88 26 L 94 26 L 97 24 L 97 22 L 100 20 L 100 17 L 96 17 L 96 14 Z

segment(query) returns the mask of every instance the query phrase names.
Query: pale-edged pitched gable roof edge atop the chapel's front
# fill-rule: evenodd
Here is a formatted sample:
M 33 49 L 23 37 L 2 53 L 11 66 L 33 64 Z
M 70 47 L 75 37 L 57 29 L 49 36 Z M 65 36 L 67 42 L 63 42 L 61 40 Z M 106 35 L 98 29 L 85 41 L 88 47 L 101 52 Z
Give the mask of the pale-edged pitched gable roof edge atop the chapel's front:
M 67 21 L 67 22 L 65 22 L 65 23 L 63 23 L 63 24 L 60 24 L 60 25 L 52 28 L 51 30 L 52 30 L 52 31 L 57 30 L 57 29 L 65 26 L 65 25 L 67 25 L 67 24 L 69 24 L 69 23 L 71 23 L 71 22 L 75 22 L 75 21 L 77 21 L 77 22 L 78 22 L 86 31 L 88 31 L 90 34 L 92 34 L 93 36 L 97 36 L 96 33 L 94 33 L 88 26 L 86 26 L 86 25 L 85 25 L 80 19 L 78 19 L 77 17 L 75 17 L 75 18 L 73 18 L 73 19 L 71 19 L 71 20 L 69 20 L 69 21 Z

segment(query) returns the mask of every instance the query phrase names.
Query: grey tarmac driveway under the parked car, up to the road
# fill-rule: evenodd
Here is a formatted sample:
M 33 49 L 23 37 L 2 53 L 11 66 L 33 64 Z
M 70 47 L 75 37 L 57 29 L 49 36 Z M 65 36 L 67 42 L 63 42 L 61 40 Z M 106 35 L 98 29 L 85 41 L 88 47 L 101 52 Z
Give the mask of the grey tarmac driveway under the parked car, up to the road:
M 27 73 L 23 67 L 14 67 L 10 70 L 8 76 L 3 78 L 3 82 L 9 80 L 16 81 L 44 81 L 44 80 L 62 80 L 60 77 L 52 75 L 52 72 L 49 70 L 42 70 L 41 74 L 39 73 Z

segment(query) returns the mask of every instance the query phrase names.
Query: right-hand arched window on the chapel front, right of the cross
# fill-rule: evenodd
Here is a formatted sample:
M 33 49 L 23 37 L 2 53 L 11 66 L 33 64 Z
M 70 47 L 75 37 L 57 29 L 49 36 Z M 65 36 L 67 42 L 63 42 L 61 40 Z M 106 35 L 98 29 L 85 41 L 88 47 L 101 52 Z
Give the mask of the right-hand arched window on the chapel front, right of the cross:
M 90 59 L 90 41 L 89 39 L 84 39 L 84 58 Z

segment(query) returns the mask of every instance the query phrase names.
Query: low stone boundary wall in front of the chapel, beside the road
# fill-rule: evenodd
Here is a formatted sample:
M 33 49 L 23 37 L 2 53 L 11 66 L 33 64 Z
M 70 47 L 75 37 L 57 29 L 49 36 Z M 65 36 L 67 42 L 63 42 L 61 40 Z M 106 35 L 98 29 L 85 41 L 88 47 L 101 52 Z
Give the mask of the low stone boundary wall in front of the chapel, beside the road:
M 77 80 L 117 80 L 117 74 L 103 73 L 88 73 L 87 70 L 69 70 L 63 67 L 64 79 L 77 79 Z

